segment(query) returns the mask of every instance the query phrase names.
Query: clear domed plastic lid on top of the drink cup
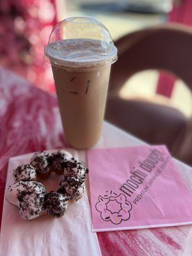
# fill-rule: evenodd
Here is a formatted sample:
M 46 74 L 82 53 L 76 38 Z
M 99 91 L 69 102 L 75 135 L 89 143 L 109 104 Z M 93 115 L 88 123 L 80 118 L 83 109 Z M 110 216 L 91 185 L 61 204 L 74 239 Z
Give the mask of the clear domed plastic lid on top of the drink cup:
M 45 55 L 52 65 L 95 69 L 111 65 L 117 49 L 108 29 L 92 17 L 70 17 L 52 29 Z

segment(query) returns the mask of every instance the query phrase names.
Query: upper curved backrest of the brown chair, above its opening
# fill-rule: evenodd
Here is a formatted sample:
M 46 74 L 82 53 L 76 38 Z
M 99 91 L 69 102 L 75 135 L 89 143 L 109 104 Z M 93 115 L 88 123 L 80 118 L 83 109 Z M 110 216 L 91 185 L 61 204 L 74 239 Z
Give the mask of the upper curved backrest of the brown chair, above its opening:
M 109 96 L 119 92 L 134 73 L 147 69 L 175 74 L 192 90 L 192 29 L 164 24 L 129 33 L 116 40 L 118 61 L 112 65 Z

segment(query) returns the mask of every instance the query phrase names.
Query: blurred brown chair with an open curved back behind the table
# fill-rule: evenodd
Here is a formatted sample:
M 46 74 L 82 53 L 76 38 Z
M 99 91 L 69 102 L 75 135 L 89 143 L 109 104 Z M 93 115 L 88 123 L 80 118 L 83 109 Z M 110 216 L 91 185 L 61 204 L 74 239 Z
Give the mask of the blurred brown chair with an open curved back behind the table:
M 192 120 L 177 109 L 118 96 L 125 81 L 141 70 L 172 72 L 192 89 L 192 29 L 166 24 L 141 29 L 115 42 L 106 119 L 148 143 L 165 144 L 173 156 L 192 164 Z M 142 86 L 142 84 L 140 84 Z

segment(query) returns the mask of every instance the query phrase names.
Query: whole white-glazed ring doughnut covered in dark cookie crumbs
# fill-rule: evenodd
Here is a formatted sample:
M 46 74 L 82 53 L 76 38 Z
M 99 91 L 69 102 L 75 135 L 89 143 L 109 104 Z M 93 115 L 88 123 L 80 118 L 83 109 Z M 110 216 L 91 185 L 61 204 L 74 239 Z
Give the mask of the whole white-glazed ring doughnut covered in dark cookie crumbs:
M 45 178 L 51 172 L 63 174 L 58 191 L 46 194 L 45 186 L 36 182 L 38 176 Z M 88 168 L 83 161 L 75 160 L 65 150 L 52 154 L 36 152 L 30 164 L 13 170 L 14 184 L 6 190 L 6 200 L 19 207 L 21 218 L 32 220 L 42 214 L 59 218 L 67 211 L 68 200 L 78 200 L 84 194 L 84 179 Z

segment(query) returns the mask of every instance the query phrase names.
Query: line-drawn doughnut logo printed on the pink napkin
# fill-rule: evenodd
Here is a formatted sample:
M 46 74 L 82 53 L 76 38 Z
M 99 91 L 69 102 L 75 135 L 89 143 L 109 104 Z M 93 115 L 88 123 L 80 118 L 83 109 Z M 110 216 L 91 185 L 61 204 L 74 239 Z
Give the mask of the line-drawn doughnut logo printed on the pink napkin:
M 99 202 L 95 208 L 100 212 L 100 218 L 104 221 L 111 221 L 113 224 L 118 225 L 122 221 L 129 220 L 132 209 L 131 202 L 123 194 L 117 195 L 115 192 L 106 191 L 106 195 L 99 196 Z

